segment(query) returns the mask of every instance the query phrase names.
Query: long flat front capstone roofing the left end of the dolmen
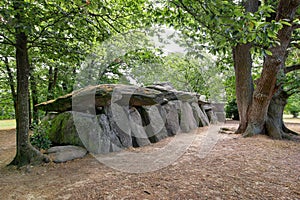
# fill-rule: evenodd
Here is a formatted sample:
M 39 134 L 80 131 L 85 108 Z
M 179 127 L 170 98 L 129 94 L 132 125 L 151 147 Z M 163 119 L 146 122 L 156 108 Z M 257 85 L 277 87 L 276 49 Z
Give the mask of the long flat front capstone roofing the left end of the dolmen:
M 112 103 L 129 106 L 147 106 L 160 104 L 164 101 L 163 94 L 158 90 L 121 84 L 103 84 L 89 86 L 74 91 L 57 99 L 36 105 L 44 111 L 65 112 L 75 110 L 91 112 L 95 107 L 108 106 Z

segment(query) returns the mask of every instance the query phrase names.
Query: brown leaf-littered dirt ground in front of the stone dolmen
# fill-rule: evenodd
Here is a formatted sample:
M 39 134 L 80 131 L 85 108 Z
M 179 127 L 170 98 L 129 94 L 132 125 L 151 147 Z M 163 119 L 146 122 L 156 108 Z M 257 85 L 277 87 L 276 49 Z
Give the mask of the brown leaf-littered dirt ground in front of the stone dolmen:
M 236 124 L 225 126 L 236 128 Z M 300 132 L 300 124 L 289 127 Z M 196 134 L 201 137 L 205 131 L 200 128 Z M 15 130 L 3 130 L 0 199 L 296 200 L 300 199 L 299 141 L 222 134 L 206 157 L 197 156 L 199 143 L 194 142 L 176 162 L 148 173 L 117 171 L 91 155 L 16 169 L 5 167 L 15 154 Z

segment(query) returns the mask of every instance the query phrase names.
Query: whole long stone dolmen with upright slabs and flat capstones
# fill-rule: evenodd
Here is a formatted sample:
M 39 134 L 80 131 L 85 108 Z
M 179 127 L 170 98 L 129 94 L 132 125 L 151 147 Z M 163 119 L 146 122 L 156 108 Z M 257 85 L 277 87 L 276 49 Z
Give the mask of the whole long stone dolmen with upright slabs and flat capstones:
M 94 154 L 156 143 L 216 123 L 213 106 L 199 94 L 169 84 L 88 86 L 36 105 L 48 114 L 54 145 L 81 146 Z

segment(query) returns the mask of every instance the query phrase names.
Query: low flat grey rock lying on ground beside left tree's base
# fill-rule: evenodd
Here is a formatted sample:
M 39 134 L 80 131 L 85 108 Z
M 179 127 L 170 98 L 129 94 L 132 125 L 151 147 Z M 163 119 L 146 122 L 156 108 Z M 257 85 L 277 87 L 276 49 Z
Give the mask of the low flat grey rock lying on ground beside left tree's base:
M 55 163 L 67 162 L 77 158 L 82 158 L 87 154 L 87 150 L 78 146 L 56 146 L 48 149 L 47 154 Z

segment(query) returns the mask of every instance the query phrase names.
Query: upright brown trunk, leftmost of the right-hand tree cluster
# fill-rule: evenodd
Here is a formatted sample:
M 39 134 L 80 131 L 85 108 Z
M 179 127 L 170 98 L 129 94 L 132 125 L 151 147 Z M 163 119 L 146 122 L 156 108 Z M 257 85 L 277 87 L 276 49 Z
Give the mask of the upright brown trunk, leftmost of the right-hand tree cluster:
M 246 12 L 258 10 L 258 0 L 247 0 L 244 3 Z M 252 58 L 251 44 L 238 44 L 233 48 L 233 60 L 236 81 L 236 101 L 239 110 L 240 124 L 236 133 L 245 132 L 248 125 L 248 110 L 252 102 Z

